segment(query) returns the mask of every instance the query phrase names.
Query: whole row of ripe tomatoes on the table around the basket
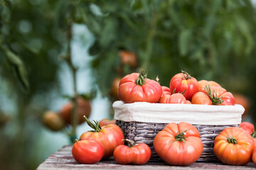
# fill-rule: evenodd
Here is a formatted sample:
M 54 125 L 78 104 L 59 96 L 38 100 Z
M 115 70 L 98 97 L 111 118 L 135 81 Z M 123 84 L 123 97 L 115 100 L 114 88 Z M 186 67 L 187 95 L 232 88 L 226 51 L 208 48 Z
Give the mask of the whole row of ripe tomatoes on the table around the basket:
M 86 118 L 87 120 L 87 118 Z M 73 157 L 82 164 L 95 164 L 114 156 L 119 164 L 146 164 L 151 157 L 148 145 L 134 145 L 124 140 L 124 134 L 115 120 L 90 122 L 94 131 L 84 132 L 72 149 Z M 215 137 L 213 151 L 223 164 L 245 165 L 252 159 L 256 164 L 256 131 L 252 123 L 243 122 L 241 128 L 225 128 Z M 188 166 L 203 152 L 203 142 L 195 126 L 189 123 L 169 123 L 154 137 L 156 154 L 167 164 Z M 129 147 L 124 145 L 129 143 Z

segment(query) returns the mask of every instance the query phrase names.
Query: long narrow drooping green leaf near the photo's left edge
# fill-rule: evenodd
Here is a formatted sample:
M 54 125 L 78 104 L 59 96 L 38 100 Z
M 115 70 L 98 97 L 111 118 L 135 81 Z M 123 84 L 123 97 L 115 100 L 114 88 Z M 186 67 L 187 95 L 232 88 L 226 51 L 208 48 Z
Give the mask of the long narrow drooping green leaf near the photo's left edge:
M 14 52 L 11 52 L 11 50 L 5 47 L 2 47 L 2 50 L 4 50 L 6 60 L 14 68 L 14 72 L 16 73 L 18 80 L 21 82 L 23 89 L 25 91 L 28 91 L 29 90 L 28 77 L 27 77 L 26 69 L 22 60 Z

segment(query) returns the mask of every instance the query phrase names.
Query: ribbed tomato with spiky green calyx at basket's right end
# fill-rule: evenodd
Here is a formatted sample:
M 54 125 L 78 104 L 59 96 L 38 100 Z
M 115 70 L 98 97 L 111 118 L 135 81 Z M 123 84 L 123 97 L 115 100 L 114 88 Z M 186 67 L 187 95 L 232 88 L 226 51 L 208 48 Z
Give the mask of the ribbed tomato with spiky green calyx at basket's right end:
M 208 86 L 204 91 L 199 91 L 191 99 L 193 104 L 203 105 L 235 105 L 235 98 L 220 86 Z

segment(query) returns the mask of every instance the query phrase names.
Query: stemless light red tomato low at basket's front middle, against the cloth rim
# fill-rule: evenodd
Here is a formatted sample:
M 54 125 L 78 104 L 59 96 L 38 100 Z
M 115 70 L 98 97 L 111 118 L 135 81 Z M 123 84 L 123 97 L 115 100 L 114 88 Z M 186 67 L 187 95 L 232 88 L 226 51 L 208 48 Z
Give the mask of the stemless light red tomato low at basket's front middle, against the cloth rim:
M 162 96 L 159 103 L 186 103 L 186 98 L 183 94 L 166 94 Z

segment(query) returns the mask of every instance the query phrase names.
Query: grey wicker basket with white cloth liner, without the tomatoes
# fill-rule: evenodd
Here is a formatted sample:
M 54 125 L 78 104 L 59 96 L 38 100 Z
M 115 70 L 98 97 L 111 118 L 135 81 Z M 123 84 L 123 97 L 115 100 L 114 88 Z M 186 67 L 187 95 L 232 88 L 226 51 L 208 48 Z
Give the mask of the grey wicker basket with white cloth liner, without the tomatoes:
M 241 122 L 241 115 L 244 112 L 244 108 L 240 105 L 209 107 L 160 103 L 124 104 L 121 101 L 114 102 L 113 108 L 114 118 L 117 119 L 117 125 L 122 128 L 124 137 L 132 140 L 135 145 L 139 143 L 149 145 L 151 148 L 151 162 L 161 161 L 154 151 L 154 137 L 168 123 L 173 122 L 191 123 L 200 132 L 203 142 L 203 154 L 201 154 L 198 162 L 218 162 L 213 153 L 215 137 L 225 128 L 238 126 Z M 197 115 L 199 118 L 193 116 L 187 118 L 188 115 L 195 114 L 199 114 Z M 207 118 L 209 114 L 215 114 L 213 117 L 217 117 L 217 119 Z M 162 120 L 161 118 L 165 119 Z M 227 125 L 223 123 L 227 123 Z

